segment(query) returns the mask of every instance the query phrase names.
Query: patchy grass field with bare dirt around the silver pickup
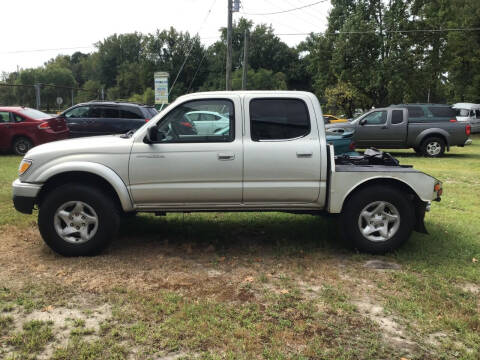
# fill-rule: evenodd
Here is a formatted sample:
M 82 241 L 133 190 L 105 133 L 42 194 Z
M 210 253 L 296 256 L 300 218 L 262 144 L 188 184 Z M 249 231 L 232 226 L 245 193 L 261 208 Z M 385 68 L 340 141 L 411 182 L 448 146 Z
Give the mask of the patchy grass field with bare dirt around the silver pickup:
M 62 258 L 13 210 L 20 158 L 0 157 L 0 358 L 480 358 L 480 136 L 393 153 L 444 195 L 430 235 L 386 256 L 329 219 L 228 213 L 140 215 L 104 254 Z

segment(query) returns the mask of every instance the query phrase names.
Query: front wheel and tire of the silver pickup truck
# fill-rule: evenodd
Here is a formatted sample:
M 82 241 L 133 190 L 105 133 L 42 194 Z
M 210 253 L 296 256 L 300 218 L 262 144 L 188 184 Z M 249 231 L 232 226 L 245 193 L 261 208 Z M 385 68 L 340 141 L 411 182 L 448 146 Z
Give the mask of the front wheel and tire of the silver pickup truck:
M 101 252 L 116 236 L 119 219 L 115 202 L 100 189 L 68 183 L 45 194 L 38 227 L 45 243 L 58 254 L 89 256 Z

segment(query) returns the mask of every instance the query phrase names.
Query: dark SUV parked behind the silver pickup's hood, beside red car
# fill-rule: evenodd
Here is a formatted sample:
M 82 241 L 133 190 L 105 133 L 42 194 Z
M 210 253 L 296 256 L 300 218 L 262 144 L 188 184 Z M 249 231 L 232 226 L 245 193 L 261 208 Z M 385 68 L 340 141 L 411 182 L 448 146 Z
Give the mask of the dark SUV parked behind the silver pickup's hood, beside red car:
M 91 101 L 59 115 L 67 122 L 71 137 L 121 134 L 138 129 L 157 114 L 153 106 L 127 102 Z

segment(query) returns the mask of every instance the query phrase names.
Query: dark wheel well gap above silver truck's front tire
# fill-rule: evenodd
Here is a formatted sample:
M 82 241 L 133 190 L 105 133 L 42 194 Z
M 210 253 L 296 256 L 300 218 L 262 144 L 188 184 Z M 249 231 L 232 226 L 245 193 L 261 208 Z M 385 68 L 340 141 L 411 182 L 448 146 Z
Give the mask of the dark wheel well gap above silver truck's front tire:
M 42 189 L 37 196 L 37 204 L 41 206 L 43 199 L 50 191 L 53 191 L 56 187 L 66 183 L 81 183 L 96 187 L 106 192 L 112 199 L 114 199 L 117 208 L 122 211 L 120 199 L 113 186 L 101 176 L 85 171 L 70 171 L 52 176 L 42 186 Z

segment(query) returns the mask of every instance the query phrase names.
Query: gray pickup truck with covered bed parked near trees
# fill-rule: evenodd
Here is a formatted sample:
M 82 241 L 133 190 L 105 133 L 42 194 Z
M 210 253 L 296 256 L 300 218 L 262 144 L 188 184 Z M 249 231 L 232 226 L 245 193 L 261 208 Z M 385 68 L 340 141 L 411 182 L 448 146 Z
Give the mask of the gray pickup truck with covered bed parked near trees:
M 354 131 L 360 148 L 413 148 L 428 157 L 442 156 L 451 146 L 464 146 L 471 126 L 456 120 L 456 112 L 446 105 L 392 105 L 373 109 L 350 123 L 327 124 L 329 132 Z

